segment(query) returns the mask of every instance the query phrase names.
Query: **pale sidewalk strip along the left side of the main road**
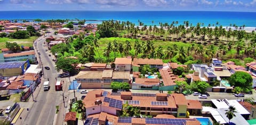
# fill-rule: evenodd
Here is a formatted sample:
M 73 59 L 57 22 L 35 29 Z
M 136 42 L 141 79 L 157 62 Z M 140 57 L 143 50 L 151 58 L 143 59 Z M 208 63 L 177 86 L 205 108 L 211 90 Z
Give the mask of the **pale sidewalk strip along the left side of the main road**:
M 41 84 L 44 82 L 44 78 L 41 78 L 41 83 L 36 87 L 35 91 L 33 92 L 34 95 L 34 100 L 36 101 L 37 96 L 41 90 Z M 21 125 L 23 123 L 23 120 L 27 117 L 27 114 L 29 113 L 29 110 L 33 107 L 34 105 L 34 101 L 33 101 L 33 97 L 30 96 L 28 102 L 19 102 L 21 103 L 20 105 L 22 106 L 21 108 L 24 108 L 24 110 L 22 110 L 22 112 L 20 114 L 17 114 L 17 121 L 14 123 L 15 125 Z M 27 104 L 29 103 L 29 104 Z M 21 118 L 21 119 L 20 119 Z

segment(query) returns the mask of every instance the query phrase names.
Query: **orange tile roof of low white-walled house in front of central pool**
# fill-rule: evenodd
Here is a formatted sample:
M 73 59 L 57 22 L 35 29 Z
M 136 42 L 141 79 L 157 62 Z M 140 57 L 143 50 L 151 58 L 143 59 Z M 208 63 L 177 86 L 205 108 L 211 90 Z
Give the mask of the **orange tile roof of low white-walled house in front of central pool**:
M 157 78 L 135 78 L 135 84 L 140 85 L 159 85 L 160 81 Z

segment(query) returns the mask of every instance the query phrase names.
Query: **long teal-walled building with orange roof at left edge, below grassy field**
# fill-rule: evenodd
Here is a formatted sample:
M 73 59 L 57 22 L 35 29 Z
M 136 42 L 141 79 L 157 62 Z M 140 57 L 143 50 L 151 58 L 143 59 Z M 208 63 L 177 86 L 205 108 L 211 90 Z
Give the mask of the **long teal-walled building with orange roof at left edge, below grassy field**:
M 22 51 L 16 53 L 0 53 L 0 62 L 21 61 L 25 59 L 29 59 L 30 61 L 35 62 L 35 50 Z

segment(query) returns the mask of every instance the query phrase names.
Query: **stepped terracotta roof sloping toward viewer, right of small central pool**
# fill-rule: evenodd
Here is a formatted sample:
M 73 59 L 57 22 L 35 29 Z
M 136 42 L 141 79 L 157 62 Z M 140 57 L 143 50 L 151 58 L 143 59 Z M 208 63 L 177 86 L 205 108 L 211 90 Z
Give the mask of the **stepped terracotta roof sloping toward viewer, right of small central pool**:
M 172 73 L 171 69 L 159 69 L 159 73 L 162 76 L 164 86 L 176 85 L 175 81 L 181 81 L 181 79 L 178 79 L 178 76 Z

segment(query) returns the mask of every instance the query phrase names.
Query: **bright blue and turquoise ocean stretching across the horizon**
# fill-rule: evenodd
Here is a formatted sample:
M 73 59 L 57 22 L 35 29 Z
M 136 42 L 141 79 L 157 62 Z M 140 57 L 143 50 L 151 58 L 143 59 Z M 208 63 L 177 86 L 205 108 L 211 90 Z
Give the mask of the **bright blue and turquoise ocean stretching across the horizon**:
M 213 11 L 0 11 L 0 20 L 8 19 L 79 19 L 79 20 L 118 20 L 130 21 L 139 25 L 157 25 L 159 22 L 178 25 L 189 21 L 201 26 L 237 26 L 256 27 L 256 12 L 213 12 Z M 217 22 L 219 23 L 217 25 Z M 86 23 L 100 23 L 86 21 Z M 204 24 L 204 25 L 202 25 Z

